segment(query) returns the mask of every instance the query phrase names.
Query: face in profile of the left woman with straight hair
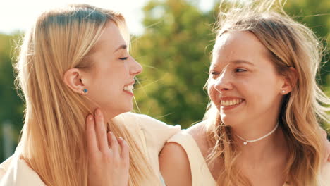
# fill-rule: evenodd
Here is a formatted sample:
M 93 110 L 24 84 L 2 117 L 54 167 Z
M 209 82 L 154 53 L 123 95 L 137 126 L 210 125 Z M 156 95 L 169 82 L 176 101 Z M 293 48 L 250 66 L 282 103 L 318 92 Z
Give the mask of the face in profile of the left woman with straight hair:
M 133 109 L 134 77 L 142 66 L 128 54 L 127 44 L 117 25 L 107 23 L 91 55 L 93 66 L 84 78 L 87 97 L 112 118 Z

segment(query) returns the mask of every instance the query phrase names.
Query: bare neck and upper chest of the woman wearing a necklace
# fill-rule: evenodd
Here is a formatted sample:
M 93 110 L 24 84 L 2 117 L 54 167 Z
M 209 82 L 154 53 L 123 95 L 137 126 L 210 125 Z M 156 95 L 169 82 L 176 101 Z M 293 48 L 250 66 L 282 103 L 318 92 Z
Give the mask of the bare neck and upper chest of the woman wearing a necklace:
M 279 127 L 269 137 L 247 145 L 238 142 L 240 155 L 237 166 L 252 185 L 283 185 L 286 181 L 288 147 Z M 271 184 L 270 184 L 271 183 Z

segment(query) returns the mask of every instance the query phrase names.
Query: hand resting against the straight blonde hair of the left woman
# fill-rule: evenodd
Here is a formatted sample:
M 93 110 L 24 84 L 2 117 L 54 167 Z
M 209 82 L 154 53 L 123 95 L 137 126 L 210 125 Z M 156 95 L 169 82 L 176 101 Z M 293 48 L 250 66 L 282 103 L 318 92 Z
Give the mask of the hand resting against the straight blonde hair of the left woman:
M 103 113 L 96 109 L 95 118 L 86 120 L 88 185 L 128 185 L 129 150 L 123 138 L 106 132 Z

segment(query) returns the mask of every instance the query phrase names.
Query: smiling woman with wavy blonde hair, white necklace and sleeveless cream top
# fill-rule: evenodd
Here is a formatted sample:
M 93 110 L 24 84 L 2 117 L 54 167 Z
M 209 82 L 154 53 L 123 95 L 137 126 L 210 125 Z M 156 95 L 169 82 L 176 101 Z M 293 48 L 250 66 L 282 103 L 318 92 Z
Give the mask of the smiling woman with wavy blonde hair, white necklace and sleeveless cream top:
M 321 42 L 276 1 L 220 11 L 209 108 L 161 151 L 166 185 L 330 185 Z

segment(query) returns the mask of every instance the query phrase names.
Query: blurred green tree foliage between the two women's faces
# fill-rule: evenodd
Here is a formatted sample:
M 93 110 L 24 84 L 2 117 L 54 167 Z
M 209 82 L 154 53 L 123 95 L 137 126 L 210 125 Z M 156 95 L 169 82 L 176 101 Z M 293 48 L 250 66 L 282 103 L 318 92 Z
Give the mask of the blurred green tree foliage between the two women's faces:
M 144 72 L 136 99 L 142 113 L 183 128 L 201 120 L 207 106 L 203 86 L 214 35 L 213 12 L 188 1 L 150 1 L 144 8 L 145 34 L 133 39 Z

